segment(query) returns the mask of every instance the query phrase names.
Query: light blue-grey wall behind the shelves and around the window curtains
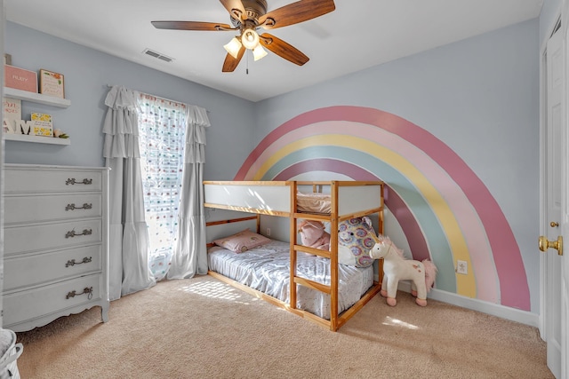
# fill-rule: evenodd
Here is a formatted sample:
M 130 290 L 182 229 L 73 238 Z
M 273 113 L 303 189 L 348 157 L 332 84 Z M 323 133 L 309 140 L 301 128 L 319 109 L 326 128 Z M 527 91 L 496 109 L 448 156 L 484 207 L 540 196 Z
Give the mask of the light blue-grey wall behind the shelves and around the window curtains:
M 212 127 L 207 130 L 205 179 L 233 178 L 251 141 L 254 103 L 200 84 L 95 51 L 76 43 L 6 23 L 5 51 L 12 65 L 32 71 L 40 68 L 63 74 L 65 109 L 22 102 L 22 116 L 52 114 L 54 128 L 68 133 L 70 146 L 5 141 L 5 162 L 102 166 L 102 122 L 108 84 L 124 85 L 166 99 L 204 107 Z

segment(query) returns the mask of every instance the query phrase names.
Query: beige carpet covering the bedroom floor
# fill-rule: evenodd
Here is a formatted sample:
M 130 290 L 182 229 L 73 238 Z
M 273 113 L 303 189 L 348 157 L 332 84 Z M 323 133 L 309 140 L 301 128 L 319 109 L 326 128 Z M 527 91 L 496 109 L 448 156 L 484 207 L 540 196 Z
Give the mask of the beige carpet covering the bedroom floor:
M 28 378 L 552 378 L 536 328 L 400 292 L 333 333 L 210 276 L 18 333 Z

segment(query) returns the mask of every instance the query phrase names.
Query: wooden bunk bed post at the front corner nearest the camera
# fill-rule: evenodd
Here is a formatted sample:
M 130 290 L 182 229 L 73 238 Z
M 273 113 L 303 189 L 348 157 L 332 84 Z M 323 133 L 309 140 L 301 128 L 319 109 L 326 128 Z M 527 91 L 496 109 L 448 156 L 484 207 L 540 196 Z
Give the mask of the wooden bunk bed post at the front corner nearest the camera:
M 338 330 L 338 182 L 330 186 L 332 208 L 330 212 L 330 330 Z

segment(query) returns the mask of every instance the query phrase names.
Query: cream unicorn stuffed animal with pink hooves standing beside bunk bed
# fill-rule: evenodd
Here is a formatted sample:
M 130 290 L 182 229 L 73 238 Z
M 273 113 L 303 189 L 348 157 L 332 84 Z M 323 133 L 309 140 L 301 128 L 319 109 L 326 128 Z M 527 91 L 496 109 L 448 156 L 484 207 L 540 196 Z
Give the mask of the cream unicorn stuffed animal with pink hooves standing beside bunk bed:
M 383 282 L 381 283 L 381 296 L 387 297 L 387 303 L 391 306 L 397 304 L 397 285 L 399 280 L 412 280 L 411 294 L 416 296 L 415 303 L 426 306 L 427 292 L 430 291 L 437 266 L 429 259 L 422 262 L 405 259 L 403 250 L 398 249 L 389 237 L 381 236 L 370 251 L 370 257 L 383 258 Z

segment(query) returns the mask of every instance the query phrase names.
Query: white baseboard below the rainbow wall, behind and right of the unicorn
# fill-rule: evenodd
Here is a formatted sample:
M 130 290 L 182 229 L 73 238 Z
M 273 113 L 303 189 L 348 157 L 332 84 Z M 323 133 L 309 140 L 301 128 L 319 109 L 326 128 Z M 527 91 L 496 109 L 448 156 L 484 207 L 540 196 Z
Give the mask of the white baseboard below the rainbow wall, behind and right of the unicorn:
M 411 292 L 411 282 L 401 280 L 397 287 L 400 291 Z M 501 319 L 520 322 L 531 327 L 539 328 L 540 316 L 532 312 L 521 311 L 501 304 L 492 304 L 470 297 L 460 296 L 437 288 L 430 290 L 428 299 L 437 300 L 447 304 L 453 304 L 472 311 L 491 314 Z

